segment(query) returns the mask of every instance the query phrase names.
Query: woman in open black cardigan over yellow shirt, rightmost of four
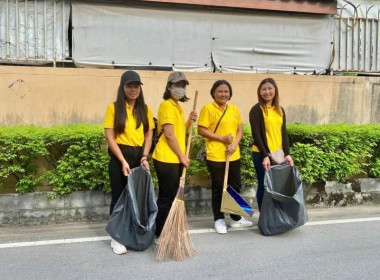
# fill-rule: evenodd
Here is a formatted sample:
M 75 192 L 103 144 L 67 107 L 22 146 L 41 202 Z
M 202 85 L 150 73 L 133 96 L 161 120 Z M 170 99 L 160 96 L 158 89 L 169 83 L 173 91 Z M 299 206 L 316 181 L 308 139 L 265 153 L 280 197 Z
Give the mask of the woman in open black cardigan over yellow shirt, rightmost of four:
M 286 131 L 285 111 L 279 104 L 279 92 L 272 78 L 261 81 L 257 88 L 259 102 L 249 112 L 253 146 L 252 160 L 256 169 L 258 188 L 256 192 L 259 210 L 264 195 L 264 174 L 270 169 L 269 154 L 283 149 L 285 162 L 294 165 L 289 154 L 289 139 Z

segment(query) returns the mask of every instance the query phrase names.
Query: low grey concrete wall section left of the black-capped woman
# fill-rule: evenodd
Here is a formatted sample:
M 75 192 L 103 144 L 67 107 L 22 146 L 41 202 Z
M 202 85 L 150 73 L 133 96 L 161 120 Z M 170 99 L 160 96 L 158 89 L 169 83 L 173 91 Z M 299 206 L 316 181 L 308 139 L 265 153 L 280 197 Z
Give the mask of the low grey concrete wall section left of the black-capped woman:
M 73 192 L 56 199 L 49 199 L 49 193 L 0 195 L 0 226 L 103 220 L 109 217 L 111 196 L 102 191 Z

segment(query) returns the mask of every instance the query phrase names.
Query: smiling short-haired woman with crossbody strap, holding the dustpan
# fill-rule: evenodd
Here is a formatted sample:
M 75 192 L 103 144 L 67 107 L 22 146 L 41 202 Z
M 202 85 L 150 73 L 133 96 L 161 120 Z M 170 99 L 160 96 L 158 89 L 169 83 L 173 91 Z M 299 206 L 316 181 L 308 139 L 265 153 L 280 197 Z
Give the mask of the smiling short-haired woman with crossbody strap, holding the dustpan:
M 226 154 L 230 155 L 228 184 L 237 192 L 241 189 L 240 149 L 243 136 L 241 116 L 235 105 L 227 104 L 232 97 L 232 87 L 225 80 L 214 83 L 210 90 L 214 102 L 206 104 L 199 115 L 198 134 L 205 137 L 207 167 L 211 174 L 212 209 L 215 230 L 227 233 L 224 213 L 220 212 Z M 231 227 L 250 227 L 252 222 L 238 215 L 230 215 Z

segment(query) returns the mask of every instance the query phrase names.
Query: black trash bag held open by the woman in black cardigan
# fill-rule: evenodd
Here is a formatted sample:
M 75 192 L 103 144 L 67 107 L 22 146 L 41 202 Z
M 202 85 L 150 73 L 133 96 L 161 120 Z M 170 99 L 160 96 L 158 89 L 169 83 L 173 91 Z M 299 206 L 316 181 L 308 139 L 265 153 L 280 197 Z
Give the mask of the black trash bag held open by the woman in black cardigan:
M 307 219 L 298 170 L 288 164 L 271 166 L 264 177 L 264 197 L 258 223 L 261 233 L 284 233 L 304 225 Z

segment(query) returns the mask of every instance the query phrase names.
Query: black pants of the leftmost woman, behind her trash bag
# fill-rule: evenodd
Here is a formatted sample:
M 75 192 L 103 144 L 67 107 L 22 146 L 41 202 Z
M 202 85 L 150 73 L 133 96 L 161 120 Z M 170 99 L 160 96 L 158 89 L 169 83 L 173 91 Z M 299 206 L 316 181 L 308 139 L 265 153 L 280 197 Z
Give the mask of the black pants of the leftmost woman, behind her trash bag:
M 140 166 L 140 159 L 142 155 L 141 147 L 119 145 L 119 148 L 131 169 Z M 111 215 L 116 202 L 118 201 L 119 197 L 123 193 L 125 186 L 128 183 L 128 176 L 124 176 L 123 172 L 121 171 L 121 162 L 115 157 L 115 155 L 111 152 L 109 148 L 108 154 L 111 157 L 108 165 L 108 174 L 111 181 L 112 191 L 110 205 Z

